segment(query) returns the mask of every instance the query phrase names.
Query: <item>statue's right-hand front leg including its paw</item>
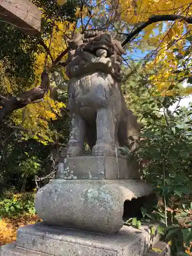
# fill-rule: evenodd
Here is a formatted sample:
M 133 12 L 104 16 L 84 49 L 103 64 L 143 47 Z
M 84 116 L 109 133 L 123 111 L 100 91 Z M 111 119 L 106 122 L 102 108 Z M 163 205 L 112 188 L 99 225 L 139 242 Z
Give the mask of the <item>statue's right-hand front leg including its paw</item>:
M 115 157 L 115 122 L 111 109 L 97 111 L 97 141 L 92 149 L 93 156 Z

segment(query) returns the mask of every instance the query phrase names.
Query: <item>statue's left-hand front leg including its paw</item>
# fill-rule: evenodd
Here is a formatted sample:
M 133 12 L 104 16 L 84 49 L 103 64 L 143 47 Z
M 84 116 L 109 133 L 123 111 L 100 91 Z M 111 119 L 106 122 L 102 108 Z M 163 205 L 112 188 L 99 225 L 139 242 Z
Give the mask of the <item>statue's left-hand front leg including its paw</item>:
M 71 132 L 67 146 L 67 157 L 83 156 L 84 154 L 85 124 L 78 114 L 71 115 Z

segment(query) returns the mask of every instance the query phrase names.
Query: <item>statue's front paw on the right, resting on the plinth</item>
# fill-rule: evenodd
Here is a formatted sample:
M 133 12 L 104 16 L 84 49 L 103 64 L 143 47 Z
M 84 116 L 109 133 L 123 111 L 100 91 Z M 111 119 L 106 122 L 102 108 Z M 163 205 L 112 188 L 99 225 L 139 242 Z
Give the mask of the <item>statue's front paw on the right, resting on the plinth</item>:
M 96 157 L 99 157 L 99 156 L 114 157 L 115 151 L 113 150 L 111 145 L 106 143 L 99 143 L 92 148 L 92 154 L 93 156 L 96 156 Z

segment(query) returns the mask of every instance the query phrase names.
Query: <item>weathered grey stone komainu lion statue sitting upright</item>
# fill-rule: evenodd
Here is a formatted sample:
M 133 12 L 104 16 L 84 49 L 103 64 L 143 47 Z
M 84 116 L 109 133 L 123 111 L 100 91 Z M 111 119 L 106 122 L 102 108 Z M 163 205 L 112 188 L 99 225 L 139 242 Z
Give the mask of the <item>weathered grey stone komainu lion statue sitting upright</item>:
M 127 109 L 118 84 L 121 80 L 119 41 L 101 31 L 75 34 L 69 41 L 66 73 L 71 132 L 67 157 L 82 156 L 84 141 L 93 156 L 116 156 L 115 148 L 137 146 L 140 124 Z

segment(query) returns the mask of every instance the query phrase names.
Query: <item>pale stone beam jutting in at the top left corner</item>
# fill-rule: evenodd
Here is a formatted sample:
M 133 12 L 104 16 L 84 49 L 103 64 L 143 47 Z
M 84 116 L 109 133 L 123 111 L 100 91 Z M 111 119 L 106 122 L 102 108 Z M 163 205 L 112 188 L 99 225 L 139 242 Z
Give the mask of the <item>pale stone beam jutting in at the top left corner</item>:
M 40 33 L 41 11 L 29 0 L 0 0 L 0 17 L 28 35 Z

